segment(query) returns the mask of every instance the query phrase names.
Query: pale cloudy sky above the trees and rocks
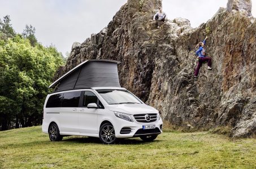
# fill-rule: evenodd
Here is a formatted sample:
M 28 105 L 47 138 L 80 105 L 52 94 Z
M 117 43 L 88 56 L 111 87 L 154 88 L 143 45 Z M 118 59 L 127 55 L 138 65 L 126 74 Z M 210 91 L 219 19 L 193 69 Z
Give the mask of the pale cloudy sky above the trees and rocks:
M 253 16 L 256 17 L 256 0 Z M 105 28 L 127 0 L 0 0 L 0 18 L 10 15 L 12 27 L 22 33 L 25 25 L 36 28 L 44 46 L 54 45 L 66 56 L 73 42 L 84 42 Z M 163 0 L 168 19 L 183 17 L 196 28 L 211 19 L 228 0 Z

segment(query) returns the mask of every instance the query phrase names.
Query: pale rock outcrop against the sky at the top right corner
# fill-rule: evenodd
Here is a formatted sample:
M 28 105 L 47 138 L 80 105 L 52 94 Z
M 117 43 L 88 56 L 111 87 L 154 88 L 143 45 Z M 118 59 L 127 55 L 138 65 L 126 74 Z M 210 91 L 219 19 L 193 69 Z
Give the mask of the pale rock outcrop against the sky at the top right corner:
M 227 10 L 244 10 L 248 12 L 248 16 L 251 16 L 251 0 L 228 0 Z

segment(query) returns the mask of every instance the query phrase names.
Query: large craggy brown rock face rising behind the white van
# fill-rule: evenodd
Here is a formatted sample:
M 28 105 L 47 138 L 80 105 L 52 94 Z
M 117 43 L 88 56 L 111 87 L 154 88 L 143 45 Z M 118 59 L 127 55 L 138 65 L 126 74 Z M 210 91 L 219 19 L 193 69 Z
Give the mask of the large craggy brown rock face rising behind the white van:
M 160 6 L 159 0 L 128 0 L 105 29 L 73 45 L 56 78 L 87 59 L 118 60 L 120 84 L 174 126 L 189 124 L 193 130 L 228 126 L 233 137 L 255 135 L 255 19 L 220 8 L 196 29 L 181 18 L 156 29 L 152 17 Z M 194 79 L 195 46 L 206 35 L 213 69 L 203 65 Z

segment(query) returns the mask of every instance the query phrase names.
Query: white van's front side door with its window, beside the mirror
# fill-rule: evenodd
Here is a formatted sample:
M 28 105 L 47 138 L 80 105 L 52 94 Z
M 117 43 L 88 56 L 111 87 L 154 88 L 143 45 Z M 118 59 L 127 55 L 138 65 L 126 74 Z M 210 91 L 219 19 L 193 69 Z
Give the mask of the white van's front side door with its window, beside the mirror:
M 97 112 L 98 109 L 88 109 L 89 103 L 98 105 L 98 97 L 92 91 L 85 91 L 83 108 L 79 109 L 79 129 L 81 134 L 98 134 Z

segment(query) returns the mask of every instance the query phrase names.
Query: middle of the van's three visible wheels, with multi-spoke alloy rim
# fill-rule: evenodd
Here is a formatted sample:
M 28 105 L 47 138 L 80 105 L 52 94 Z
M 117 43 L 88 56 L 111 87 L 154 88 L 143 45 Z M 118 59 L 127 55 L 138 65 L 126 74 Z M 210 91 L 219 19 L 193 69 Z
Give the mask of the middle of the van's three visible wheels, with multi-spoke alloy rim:
M 101 140 L 103 144 L 115 143 L 115 129 L 111 123 L 105 123 L 99 128 L 99 140 Z

